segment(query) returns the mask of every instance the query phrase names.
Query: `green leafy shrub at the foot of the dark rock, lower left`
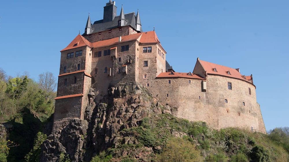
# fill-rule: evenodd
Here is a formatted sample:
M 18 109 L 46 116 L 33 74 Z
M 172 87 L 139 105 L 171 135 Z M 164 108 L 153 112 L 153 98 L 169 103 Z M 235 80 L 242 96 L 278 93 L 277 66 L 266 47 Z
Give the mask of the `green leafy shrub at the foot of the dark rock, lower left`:
M 38 162 L 40 158 L 41 148 L 40 145 L 45 141 L 47 135 L 38 132 L 32 150 L 25 156 L 27 162 Z

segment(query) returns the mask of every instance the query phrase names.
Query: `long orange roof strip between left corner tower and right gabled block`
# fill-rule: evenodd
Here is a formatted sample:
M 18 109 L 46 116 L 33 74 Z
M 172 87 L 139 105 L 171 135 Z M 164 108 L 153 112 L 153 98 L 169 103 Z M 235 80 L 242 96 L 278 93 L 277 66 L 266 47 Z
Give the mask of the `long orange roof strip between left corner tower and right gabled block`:
M 121 36 L 121 42 L 137 40 L 141 35 L 142 35 L 142 33 Z M 116 37 L 116 38 L 106 39 L 106 40 L 103 40 L 103 41 L 97 41 L 97 42 L 93 42 L 92 45 L 93 45 L 94 48 L 105 47 L 105 46 L 109 46 L 109 45 L 113 45 L 113 44 L 119 43 L 118 39 L 119 38 Z

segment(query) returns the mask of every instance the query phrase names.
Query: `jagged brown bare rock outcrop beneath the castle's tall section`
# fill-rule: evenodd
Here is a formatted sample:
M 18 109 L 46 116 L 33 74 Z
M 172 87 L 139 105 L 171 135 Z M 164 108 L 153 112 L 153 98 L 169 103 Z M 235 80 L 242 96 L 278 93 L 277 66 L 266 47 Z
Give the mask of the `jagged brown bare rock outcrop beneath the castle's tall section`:
M 90 161 L 103 150 L 115 148 L 114 157 L 130 155 L 147 161 L 154 148 L 140 147 L 118 149 L 123 144 L 138 144 L 135 137 L 122 130 L 137 127 L 140 120 L 151 114 L 169 113 L 171 108 L 163 106 L 151 97 L 146 89 L 136 84 L 123 84 L 109 89 L 109 95 L 95 101 L 95 90 L 88 94 L 89 105 L 85 121 L 73 119 L 62 130 L 49 135 L 42 144 L 41 161 L 56 162 L 61 153 L 68 154 L 72 161 Z M 85 151 L 84 151 L 85 150 Z

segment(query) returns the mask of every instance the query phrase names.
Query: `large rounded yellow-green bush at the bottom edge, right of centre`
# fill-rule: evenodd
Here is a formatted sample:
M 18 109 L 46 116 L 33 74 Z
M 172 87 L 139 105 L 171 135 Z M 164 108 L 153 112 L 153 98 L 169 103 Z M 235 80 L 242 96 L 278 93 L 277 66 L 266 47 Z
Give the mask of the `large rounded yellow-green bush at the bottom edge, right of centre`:
M 160 162 L 200 162 L 201 152 L 189 141 L 177 138 L 168 141 L 158 157 Z

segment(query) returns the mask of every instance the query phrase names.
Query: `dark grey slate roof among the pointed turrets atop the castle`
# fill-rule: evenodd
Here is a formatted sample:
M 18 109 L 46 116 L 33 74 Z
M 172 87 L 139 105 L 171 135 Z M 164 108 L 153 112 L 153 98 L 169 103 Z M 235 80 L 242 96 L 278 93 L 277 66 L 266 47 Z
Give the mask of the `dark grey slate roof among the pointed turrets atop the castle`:
M 131 12 L 131 13 L 125 14 L 124 16 L 125 16 L 125 20 L 127 21 L 125 26 L 130 25 L 132 28 L 134 28 L 136 30 L 136 13 Z M 93 32 L 91 32 L 90 34 L 101 32 L 104 30 L 114 29 L 114 28 L 118 27 L 119 18 L 120 18 L 120 16 L 115 16 L 113 21 L 109 21 L 106 23 L 103 23 L 103 19 L 95 21 L 91 25 Z

